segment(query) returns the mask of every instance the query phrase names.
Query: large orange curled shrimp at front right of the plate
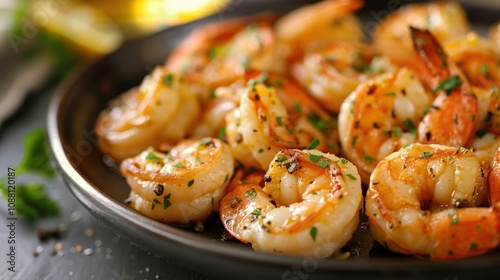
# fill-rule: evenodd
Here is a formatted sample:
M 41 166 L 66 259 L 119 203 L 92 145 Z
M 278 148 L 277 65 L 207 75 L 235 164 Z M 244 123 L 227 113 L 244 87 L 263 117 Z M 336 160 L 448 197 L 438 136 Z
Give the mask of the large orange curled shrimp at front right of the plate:
M 380 162 L 366 215 L 372 236 L 390 250 L 449 260 L 495 249 L 500 204 L 480 207 L 486 178 L 471 150 L 412 144 Z

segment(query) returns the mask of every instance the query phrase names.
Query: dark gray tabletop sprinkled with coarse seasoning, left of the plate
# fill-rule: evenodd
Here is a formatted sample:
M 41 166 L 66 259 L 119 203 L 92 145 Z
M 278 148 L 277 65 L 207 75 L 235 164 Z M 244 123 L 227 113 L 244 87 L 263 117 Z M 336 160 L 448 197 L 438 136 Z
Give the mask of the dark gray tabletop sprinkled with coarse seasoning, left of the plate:
M 54 92 L 54 87 L 48 87 L 31 94 L 0 128 L 0 176 L 20 160 L 26 133 L 46 127 L 47 109 Z M 17 180 L 46 182 L 48 192 L 62 211 L 57 217 L 34 223 L 20 218 L 15 221 L 15 272 L 12 272 L 7 263 L 10 221 L 7 203 L 0 199 L 0 279 L 209 279 L 144 252 L 116 235 L 80 205 L 62 180 L 25 176 Z M 42 242 L 35 234 L 37 228 L 57 227 L 67 228 L 59 240 Z M 56 246 L 61 248 L 61 245 L 62 250 L 54 254 Z M 36 251 L 41 251 L 38 256 L 34 254 Z

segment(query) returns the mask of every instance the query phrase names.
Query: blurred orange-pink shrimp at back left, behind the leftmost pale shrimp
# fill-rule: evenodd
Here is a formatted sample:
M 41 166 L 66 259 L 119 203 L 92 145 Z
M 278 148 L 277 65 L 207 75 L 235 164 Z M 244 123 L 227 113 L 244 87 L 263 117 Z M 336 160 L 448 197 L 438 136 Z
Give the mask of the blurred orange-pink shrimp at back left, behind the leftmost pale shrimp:
M 274 18 L 259 15 L 207 24 L 172 52 L 166 68 L 210 90 L 244 79 L 247 69 L 283 71 L 270 26 Z

